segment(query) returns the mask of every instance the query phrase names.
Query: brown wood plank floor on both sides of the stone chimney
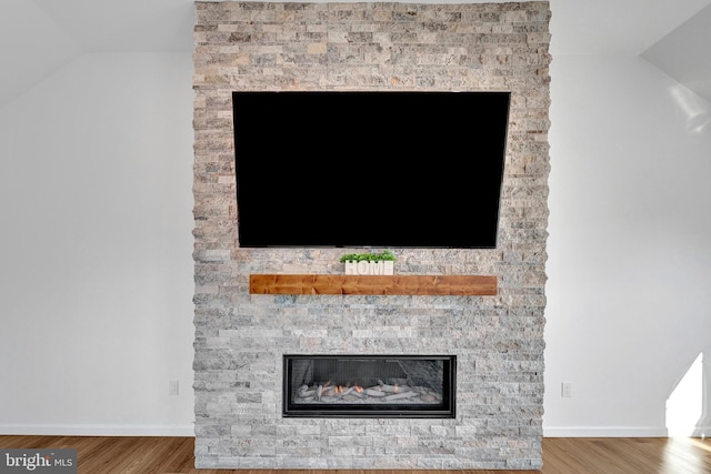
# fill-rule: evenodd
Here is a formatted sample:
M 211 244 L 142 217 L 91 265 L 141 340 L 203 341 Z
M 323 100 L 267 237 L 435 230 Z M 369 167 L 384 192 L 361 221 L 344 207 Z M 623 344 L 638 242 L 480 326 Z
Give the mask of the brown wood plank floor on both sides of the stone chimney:
M 700 438 L 543 440 L 541 471 L 197 470 L 194 438 L 0 436 L 0 448 L 77 448 L 79 474 L 710 474 L 711 441 Z

